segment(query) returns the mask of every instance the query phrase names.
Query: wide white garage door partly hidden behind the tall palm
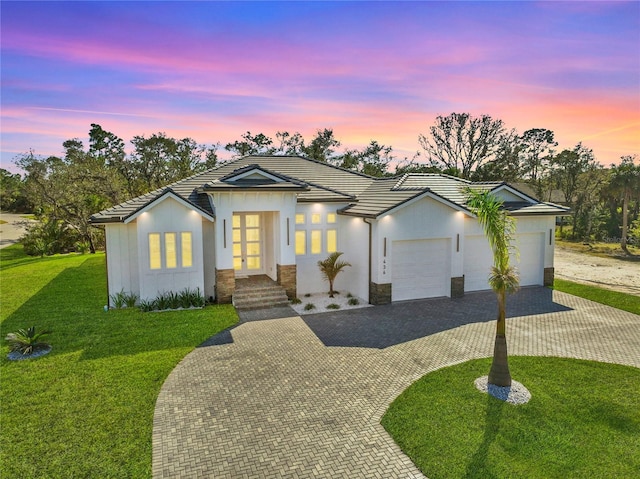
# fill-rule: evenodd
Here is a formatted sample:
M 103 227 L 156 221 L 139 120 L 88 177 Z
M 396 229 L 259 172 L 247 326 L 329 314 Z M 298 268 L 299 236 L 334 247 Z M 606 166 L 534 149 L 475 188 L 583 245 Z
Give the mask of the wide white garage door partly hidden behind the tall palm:
M 520 257 L 512 255 L 511 264 L 518 269 L 520 286 L 543 284 L 544 233 L 516 236 Z M 487 278 L 493 265 L 493 252 L 482 235 L 467 236 L 464 244 L 464 290 L 491 289 Z

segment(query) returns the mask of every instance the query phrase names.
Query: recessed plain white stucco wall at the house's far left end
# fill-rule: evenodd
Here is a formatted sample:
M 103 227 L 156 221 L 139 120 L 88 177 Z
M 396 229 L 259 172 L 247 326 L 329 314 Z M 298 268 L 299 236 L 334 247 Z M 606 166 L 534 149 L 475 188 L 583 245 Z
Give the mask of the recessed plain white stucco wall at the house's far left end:
M 120 291 L 140 294 L 136 224 L 105 225 L 109 295 Z

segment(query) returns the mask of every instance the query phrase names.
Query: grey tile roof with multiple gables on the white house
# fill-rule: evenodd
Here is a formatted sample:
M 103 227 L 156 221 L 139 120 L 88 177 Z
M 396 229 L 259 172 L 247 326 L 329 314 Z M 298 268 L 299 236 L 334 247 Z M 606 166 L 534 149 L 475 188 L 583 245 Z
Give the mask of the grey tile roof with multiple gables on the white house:
M 252 169 L 263 171 L 280 181 L 269 181 L 266 178 L 239 178 L 233 181 L 235 176 Z M 214 212 L 206 192 L 254 189 L 296 191 L 298 202 L 349 203 L 342 209 L 342 213 L 375 218 L 425 193 L 466 210 L 464 187 L 495 190 L 505 185 L 502 182 L 472 183 L 436 173 L 373 178 L 300 156 L 248 156 L 103 210 L 93 215 L 91 221 L 97 224 L 122 222 L 164 194 L 168 188 L 212 216 Z M 562 215 L 568 212 L 567 208 L 537 202 L 515 188 L 510 188 L 523 196 L 522 202 L 505 203 L 505 208 L 512 214 Z

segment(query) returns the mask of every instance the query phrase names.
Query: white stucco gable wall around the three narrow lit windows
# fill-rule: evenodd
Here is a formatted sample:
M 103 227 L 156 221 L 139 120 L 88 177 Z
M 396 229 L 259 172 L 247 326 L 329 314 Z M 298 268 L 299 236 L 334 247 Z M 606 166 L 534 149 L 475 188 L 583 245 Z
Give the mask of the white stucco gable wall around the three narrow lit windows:
M 202 215 L 167 196 L 141 213 L 136 223 L 140 298 L 153 299 L 163 292 L 185 288 L 200 288 L 204 294 Z M 164 264 L 164 233 L 173 232 L 179 238 L 183 231 L 192 234 L 193 266 L 183 268 L 178 257 L 177 267 L 168 269 Z M 149 267 L 149 233 L 160 233 L 162 238 L 162 268 L 158 270 Z

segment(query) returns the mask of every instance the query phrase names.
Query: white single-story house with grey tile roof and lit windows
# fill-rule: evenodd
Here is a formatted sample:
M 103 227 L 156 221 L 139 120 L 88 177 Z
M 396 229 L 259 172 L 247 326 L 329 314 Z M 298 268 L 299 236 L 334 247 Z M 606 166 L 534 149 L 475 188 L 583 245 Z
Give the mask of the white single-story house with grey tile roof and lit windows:
M 236 279 L 267 275 L 289 298 L 327 289 L 317 262 L 371 304 L 488 289 L 492 253 L 464 187 L 488 189 L 517 218 L 523 286 L 553 282 L 554 223 L 567 209 L 500 182 L 441 174 L 372 178 L 300 156 L 248 156 L 91 217 L 106 233 L 109 293 L 153 299 L 200 288 L 231 302 Z

